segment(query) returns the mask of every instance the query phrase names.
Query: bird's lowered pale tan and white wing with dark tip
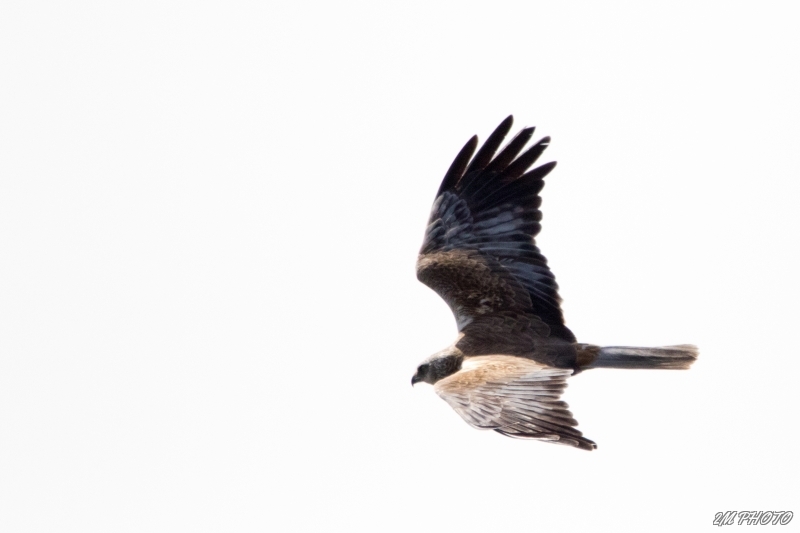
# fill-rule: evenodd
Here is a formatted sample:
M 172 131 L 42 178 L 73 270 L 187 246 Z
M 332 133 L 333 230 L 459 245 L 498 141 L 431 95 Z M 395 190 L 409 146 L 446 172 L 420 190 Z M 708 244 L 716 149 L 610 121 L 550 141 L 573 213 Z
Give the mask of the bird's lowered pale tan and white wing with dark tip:
M 597 445 L 575 429 L 578 423 L 558 399 L 571 374 L 522 357 L 468 357 L 434 390 L 473 427 L 593 450 Z

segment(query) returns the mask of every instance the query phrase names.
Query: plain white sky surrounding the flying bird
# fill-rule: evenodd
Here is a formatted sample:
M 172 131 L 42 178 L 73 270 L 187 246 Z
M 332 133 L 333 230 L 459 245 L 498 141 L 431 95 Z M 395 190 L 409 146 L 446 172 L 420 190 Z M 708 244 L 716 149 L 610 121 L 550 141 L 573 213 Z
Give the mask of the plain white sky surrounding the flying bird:
M 0 530 L 800 512 L 795 9 L 4 2 Z M 553 137 L 568 326 L 701 349 L 571 379 L 591 453 L 410 386 L 455 336 L 414 275 L 430 203 L 509 113 Z

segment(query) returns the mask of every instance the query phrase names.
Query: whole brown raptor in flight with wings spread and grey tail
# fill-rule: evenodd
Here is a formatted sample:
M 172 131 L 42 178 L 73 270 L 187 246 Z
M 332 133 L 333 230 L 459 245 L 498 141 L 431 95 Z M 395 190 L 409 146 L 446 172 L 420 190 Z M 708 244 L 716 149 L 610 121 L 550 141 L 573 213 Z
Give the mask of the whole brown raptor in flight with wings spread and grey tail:
M 559 400 L 569 376 L 590 368 L 685 369 L 697 348 L 577 342 L 535 242 L 539 192 L 555 162 L 528 168 L 550 138 L 523 152 L 534 130 L 525 128 L 497 153 L 512 123 L 506 118 L 477 153 L 472 137 L 436 194 L 417 278 L 450 306 L 458 337 L 420 364 L 411 384 L 432 384 L 476 428 L 592 450 L 597 445 Z

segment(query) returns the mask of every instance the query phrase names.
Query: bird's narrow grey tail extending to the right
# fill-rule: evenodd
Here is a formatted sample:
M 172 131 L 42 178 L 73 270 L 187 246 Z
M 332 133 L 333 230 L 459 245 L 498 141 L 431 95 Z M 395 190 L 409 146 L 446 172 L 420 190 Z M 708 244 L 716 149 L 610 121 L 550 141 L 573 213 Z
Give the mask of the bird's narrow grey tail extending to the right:
M 679 344 L 658 348 L 605 346 L 596 349 L 596 357 L 582 370 L 589 368 L 652 368 L 687 369 L 697 359 L 697 346 Z M 595 351 L 593 350 L 593 351 Z

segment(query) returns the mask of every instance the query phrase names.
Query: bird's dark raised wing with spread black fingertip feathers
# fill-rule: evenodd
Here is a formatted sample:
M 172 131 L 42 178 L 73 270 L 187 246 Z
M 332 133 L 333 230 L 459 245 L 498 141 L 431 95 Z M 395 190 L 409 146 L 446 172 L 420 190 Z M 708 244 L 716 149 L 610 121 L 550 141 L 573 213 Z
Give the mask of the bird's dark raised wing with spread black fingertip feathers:
M 433 203 L 417 277 L 448 303 L 459 331 L 472 324 L 479 333 L 494 328 L 572 343 L 558 285 L 534 241 L 539 192 L 555 163 L 526 172 L 550 138 L 522 152 L 534 130 L 525 128 L 495 155 L 512 122 L 505 119 L 475 157 L 473 137 L 453 161 Z

